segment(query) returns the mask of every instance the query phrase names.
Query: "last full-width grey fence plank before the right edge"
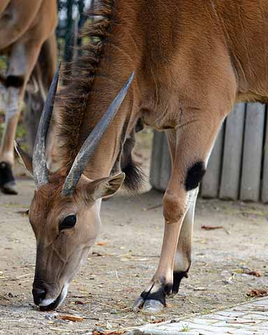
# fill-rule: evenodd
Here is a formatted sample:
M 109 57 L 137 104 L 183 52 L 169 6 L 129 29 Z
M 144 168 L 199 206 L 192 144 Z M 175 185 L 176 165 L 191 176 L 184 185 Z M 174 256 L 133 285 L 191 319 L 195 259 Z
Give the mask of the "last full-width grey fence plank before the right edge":
M 258 201 L 260 198 L 264 122 L 265 105 L 248 103 L 240 189 L 240 199 L 244 201 Z

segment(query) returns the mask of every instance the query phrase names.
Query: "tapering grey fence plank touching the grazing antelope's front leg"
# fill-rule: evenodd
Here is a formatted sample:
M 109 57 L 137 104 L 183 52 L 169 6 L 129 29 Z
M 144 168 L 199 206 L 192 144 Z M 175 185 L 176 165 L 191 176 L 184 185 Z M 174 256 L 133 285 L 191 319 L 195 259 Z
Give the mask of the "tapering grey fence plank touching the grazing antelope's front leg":
M 201 186 L 202 198 L 217 198 L 221 179 L 221 156 L 223 151 L 224 125 L 221 127 L 218 137 L 211 152 L 207 164 L 207 172 L 204 175 Z

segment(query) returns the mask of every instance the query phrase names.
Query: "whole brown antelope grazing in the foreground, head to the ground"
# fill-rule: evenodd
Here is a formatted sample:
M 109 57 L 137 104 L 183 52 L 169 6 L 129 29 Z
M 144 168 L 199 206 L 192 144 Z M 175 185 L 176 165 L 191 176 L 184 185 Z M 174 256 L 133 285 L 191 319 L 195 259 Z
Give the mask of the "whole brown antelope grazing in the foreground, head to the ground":
M 84 33 L 94 42 L 61 95 L 61 170 L 45 167 L 48 121 L 40 123 L 33 163 L 18 148 L 37 184 L 29 210 L 37 241 L 34 301 L 43 309 L 61 304 L 100 229 L 101 198 L 121 186 L 122 171 L 128 186 L 137 186 L 131 148 L 142 118 L 165 131 L 172 158 L 161 258 L 135 303 L 159 311 L 191 266 L 198 185 L 223 120 L 235 101 L 267 101 L 268 0 L 103 0 L 95 15 L 101 20 Z

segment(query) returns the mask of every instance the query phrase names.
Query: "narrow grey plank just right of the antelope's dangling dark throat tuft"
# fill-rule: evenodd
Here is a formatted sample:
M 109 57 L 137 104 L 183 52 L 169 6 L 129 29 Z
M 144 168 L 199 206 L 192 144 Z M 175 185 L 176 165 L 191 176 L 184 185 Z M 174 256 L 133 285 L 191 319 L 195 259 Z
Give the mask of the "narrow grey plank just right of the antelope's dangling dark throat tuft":
M 151 186 L 160 189 L 160 176 L 161 176 L 161 165 L 162 165 L 162 153 L 163 153 L 163 137 L 164 133 L 159 133 L 154 131 L 153 140 L 153 151 L 151 154 L 151 171 L 150 171 L 150 181 Z

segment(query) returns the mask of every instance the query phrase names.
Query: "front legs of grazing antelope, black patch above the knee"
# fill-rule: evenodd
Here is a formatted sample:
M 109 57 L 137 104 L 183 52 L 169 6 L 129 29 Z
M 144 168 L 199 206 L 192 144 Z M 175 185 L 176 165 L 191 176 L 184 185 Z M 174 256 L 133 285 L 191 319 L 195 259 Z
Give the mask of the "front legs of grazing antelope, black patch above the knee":
M 135 308 L 143 307 L 148 312 L 161 311 L 167 295 L 179 289 L 181 276 L 185 276 L 190 267 L 188 253 L 191 253 L 195 198 L 223 119 L 213 119 L 206 112 L 199 113 L 198 119 L 187 121 L 185 126 L 168 136 L 172 174 L 163 198 L 165 232 L 161 257 L 150 285 L 135 303 Z

